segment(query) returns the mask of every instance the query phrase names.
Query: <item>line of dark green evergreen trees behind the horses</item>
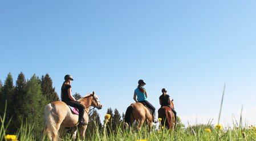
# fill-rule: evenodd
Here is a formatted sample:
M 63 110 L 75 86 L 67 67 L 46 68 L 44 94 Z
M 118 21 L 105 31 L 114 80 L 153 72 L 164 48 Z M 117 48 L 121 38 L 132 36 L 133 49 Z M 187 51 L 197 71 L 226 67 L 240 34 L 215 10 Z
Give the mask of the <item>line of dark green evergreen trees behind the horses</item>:
M 78 100 L 82 96 L 75 93 L 74 97 Z M 4 83 L 0 80 L 0 118 L 2 119 L 5 115 L 5 121 L 7 121 L 2 123 L 0 120 L 1 125 L 5 127 L 8 125 L 6 129 L 8 134 L 17 133 L 22 124 L 33 126 L 34 135 L 39 139 L 44 127 L 45 106 L 59 100 L 49 74 L 42 75 L 41 78 L 34 74 L 26 80 L 25 75 L 21 72 L 14 85 L 13 76 L 9 73 Z M 121 117 L 117 109 L 113 112 L 111 108 L 108 108 L 107 114 L 111 115 L 107 127 L 108 133 L 114 133 L 123 122 L 124 113 Z M 92 135 L 96 129 L 102 131 L 103 124 L 97 110 L 91 110 L 89 119 L 87 136 Z

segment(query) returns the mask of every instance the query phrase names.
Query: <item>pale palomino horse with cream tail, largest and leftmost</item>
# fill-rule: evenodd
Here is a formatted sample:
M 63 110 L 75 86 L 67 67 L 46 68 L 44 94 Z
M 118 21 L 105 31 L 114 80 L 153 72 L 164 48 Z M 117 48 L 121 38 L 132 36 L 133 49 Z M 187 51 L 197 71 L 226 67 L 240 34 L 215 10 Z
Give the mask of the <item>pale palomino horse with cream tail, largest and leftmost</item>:
M 97 109 L 101 109 L 102 105 L 100 104 L 100 101 L 98 100 L 94 92 L 92 92 L 92 94 L 86 95 L 85 97 L 80 99 L 79 102 L 85 106 L 83 118 L 86 124 L 79 127 L 80 136 L 82 136 L 82 139 L 84 139 L 89 119 L 88 112 L 91 106 L 94 106 Z M 76 126 L 78 125 L 78 115 L 73 114 L 68 105 L 62 101 L 55 101 L 46 105 L 46 108 L 44 109 L 44 123 L 44 131 L 48 134 L 48 137 L 51 140 L 60 140 L 58 133 L 60 126 L 74 127 L 73 138 L 76 138 Z

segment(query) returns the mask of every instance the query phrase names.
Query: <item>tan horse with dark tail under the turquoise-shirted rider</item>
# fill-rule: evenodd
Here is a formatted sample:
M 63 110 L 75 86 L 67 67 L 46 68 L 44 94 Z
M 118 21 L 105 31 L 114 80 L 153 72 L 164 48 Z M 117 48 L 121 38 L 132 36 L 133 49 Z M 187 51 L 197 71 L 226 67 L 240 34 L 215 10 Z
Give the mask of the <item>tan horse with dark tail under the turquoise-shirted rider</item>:
M 131 127 L 135 121 L 139 123 L 138 129 L 143 126 L 145 122 L 149 126 L 149 131 L 151 131 L 153 126 L 153 116 L 148 108 L 140 102 L 128 106 L 124 116 L 125 128 L 127 128 L 127 125 Z

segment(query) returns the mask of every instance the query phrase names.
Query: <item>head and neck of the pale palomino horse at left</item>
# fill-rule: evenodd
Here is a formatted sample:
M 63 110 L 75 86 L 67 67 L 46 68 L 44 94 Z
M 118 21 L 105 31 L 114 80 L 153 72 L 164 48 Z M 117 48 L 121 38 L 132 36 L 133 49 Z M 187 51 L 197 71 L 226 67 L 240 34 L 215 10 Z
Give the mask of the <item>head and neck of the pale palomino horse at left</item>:
M 88 100 L 86 101 L 86 99 L 88 99 Z M 94 92 L 92 92 L 91 94 L 83 97 L 81 102 L 84 103 L 84 105 L 94 106 L 97 109 L 101 109 L 102 108 L 102 104 L 100 103 L 97 95 L 95 95 Z

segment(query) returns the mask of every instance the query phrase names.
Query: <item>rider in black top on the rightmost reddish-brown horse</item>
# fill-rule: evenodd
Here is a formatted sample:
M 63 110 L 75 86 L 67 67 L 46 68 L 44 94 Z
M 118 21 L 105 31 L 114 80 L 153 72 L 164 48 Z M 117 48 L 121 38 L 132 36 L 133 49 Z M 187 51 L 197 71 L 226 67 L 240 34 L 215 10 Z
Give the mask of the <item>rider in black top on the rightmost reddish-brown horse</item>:
M 173 99 L 172 99 L 173 101 Z M 162 88 L 162 95 L 159 97 L 159 102 L 160 102 L 160 105 L 161 107 L 162 106 L 169 106 L 170 109 L 172 109 L 172 112 L 174 113 L 174 117 L 175 117 L 175 121 L 177 121 L 177 118 L 176 118 L 176 111 L 170 106 L 170 96 L 167 95 L 167 91 L 165 88 Z

